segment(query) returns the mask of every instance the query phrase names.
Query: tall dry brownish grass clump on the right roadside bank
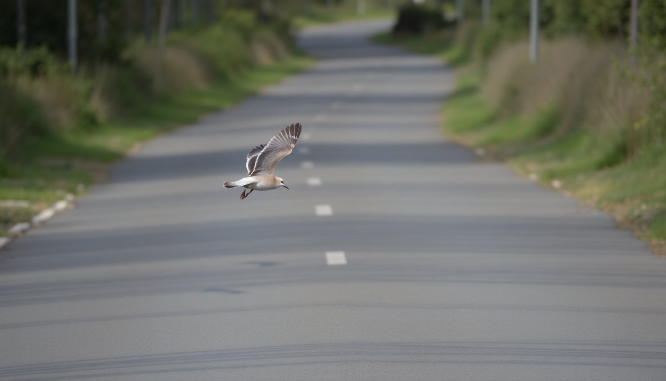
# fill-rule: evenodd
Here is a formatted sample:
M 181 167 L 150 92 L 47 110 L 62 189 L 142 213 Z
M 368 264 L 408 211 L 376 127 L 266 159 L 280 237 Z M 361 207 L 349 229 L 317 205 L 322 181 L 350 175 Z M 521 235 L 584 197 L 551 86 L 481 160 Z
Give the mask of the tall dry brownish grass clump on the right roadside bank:
M 630 133 L 649 94 L 614 64 L 625 57 L 619 42 L 589 43 L 580 37 L 540 41 L 529 62 L 527 41 L 500 49 L 486 65 L 482 96 L 500 113 L 532 117 L 557 107 L 561 129 Z

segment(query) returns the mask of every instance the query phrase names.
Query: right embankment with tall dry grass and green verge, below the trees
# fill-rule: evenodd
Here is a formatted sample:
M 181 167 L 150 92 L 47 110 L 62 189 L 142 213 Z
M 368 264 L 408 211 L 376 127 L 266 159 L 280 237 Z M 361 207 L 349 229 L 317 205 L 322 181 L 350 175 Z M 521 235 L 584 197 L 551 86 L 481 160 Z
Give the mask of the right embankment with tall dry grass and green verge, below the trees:
M 442 107 L 446 135 L 611 213 L 666 256 L 663 89 L 650 86 L 663 81 L 663 57 L 639 57 L 629 69 L 620 41 L 566 37 L 542 40 L 532 64 L 527 41 L 492 47 L 473 24 L 376 40 L 456 67 L 456 93 Z

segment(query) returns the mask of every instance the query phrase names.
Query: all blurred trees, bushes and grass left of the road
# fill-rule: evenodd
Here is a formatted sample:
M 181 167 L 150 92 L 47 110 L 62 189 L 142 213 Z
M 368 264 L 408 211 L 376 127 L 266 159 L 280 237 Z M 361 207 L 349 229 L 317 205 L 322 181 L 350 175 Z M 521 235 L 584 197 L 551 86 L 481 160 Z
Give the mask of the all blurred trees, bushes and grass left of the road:
M 0 235 L 137 143 L 310 65 L 296 25 L 388 15 L 390 3 L 77 0 L 74 73 L 67 0 L 0 0 L 0 200 L 29 204 L 0 208 Z

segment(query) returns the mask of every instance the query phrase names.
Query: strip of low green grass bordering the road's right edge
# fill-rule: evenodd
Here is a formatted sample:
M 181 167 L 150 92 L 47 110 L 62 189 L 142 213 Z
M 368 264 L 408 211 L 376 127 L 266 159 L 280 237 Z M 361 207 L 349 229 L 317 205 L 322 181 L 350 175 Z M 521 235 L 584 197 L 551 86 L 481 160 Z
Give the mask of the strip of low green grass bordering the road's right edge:
M 531 117 L 493 109 L 480 93 L 478 65 L 469 64 L 468 53 L 446 33 L 418 37 L 382 33 L 374 41 L 436 55 L 458 68 L 456 91 L 442 105 L 442 131 L 450 138 L 468 147 L 483 147 L 488 156 L 507 161 L 519 173 L 537 175 L 544 186 L 559 180 L 562 191 L 610 212 L 621 226 L 651 240 L 655 252 L 666 254 L 663 150 L 629 158 L 625 137 L 613 129 L 561 130 L 557 104 Z

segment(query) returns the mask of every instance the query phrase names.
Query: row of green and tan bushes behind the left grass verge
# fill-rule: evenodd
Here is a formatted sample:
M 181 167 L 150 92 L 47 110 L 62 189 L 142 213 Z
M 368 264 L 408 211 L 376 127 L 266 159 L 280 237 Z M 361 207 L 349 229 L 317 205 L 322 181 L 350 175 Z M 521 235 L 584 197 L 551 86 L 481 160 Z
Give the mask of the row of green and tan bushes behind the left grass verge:
M 82 65 L 77 75 L 47 47 L 1 48 L 0 171 L 6 175 L 13 162 L 33 157 L 25 151 L 35 146 L 31 141 L 95 129 L 103 119 L 144 109 L 156 95 L 207 89 L 286 57 L 292 44 L 286 25 L 277 18 L 260 22 L 252 11 L 224 11 L 209 27 L 170 33 L 162 56 L 143 41 L 118 56 L 123 37 L 109 37 L 102 41 L 109 49 L 101 43 L 97 55 L 114 55 L 110 63 Z M 163 79 L 155 89 L 158 64 Z

